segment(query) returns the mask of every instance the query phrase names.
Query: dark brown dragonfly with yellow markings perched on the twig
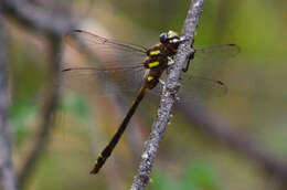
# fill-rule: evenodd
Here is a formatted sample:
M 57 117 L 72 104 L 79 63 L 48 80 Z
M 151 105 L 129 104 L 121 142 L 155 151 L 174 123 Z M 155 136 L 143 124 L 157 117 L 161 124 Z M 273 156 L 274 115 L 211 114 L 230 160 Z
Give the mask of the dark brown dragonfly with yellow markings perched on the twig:
M 78 43 L 85 44 L 86 55 L 93 56 L 97 55 L 98 60 L 102 64 L 100 65 L 93 65 L 93 66 L 66 66 L 63 67 L 63 73 L 79 73 L 79 72 L 88 72 L 93 75 L 105 75 L 109 72 L 113 72 L 111 75 L 123 71 L 129 71 L 134 74 L 137 78 L 131 78 L 127 76 L 126 80 L 131 83 L 140 82 L 139 89 L 137 92 L 137 96 L 132 102 L 131 106 L 129 107 L 127 114 L 125 115 L 121 124 L 119 125 L 117 131 L 113 136 L 111 140 L 108 145 L 104 148 L 104 150 L 98 155 L 93 169 L 89 173 L 95 175 L 98 173 L 100 168 L 105 165 L 106 160 L 111 155 L 114 148 L 118 144 L 120 137 L 123 136 L 125 129 L 127 128 L 131 117 L 136 113 L 140 102 L 150 91 L 159 91 L 158 86 L 163 86 L 164 89 L 164 82 L 161 80 L 162 75 L 167 73 L 169 67 L 174 63 L 173 56 L 176 55 L 179 45 L 187 41 L 183 36 L 180 36 L 174 31 L 163 32 L 159 35 L 159 43 L 151 48 L 145 48 L 141 45 L 136 45 L 132 43 L 121 42 L 118 40 L 111 40 L 107 38 L 103 38 L 96 34 L 93 34 L 87 31 L 83 30 L 75 30 L 65 35 L 65 40 L 71 42 L 73 40 L 77 40 Z M 205 49 L 193 49 L 194 52 L 190 55 L 190 60 L 196 61 L 205 60 L 210 62 L 214 62 L 216 59 L 221 59 L 221 61 L 227 60 L 228 57 L 235 56 L 240 49 L 235 44 L 224 44 L 217 46 L 211 46 Z M 201 57 L 201 59 L 200 59 Z M 190 73 L 196 72 L 196 66 L 200 65 L 196 62 L 191 65 L 192 72 L 189 72 L 190 60 L 187 62 L 182 72 L 189 73 L 187 74 L 188 80 L 193 81 L 194 91 L 200 89 L 201 85 L 210 86 L 214 89 L 226 91 L 226 85 L 219 80 L 211 80 L 203 76 L 194 76 Z M 221 62 L 220 61 L 220 62 Z M 196 64 L 195 64 L 196 63 Z M 203 63 L 201 63 L 203 64 Z M 215 63 L 213 63 L 215 64 Z M 193 66 L 194 65 L 194 66 Z M 204 65 L 203 65 L 204 67 Z M 198 73 L 201 75 L 202 72 L 204 73 L 209 70 L 209 65 L 205 68 L 200 68 Z M 211 66 L 212 67 L 212 66 Z M 140 74 L 138 71 L 144 71 Z M 125 74 L 127 75 L 127 74 Z M 104 80 L 105 81 L 105 80 Z M 125 81 L 125 80 L 123 80 Z M 196 83 L 200 82 L 200 83 Z M 198 84 L 198 85 L 196 85 Z

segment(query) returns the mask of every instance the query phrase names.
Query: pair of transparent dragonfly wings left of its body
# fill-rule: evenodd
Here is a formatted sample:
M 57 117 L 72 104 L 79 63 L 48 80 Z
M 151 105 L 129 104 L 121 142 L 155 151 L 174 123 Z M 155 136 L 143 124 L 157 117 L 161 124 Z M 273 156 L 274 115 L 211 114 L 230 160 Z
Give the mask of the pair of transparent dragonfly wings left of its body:
M 105 92 L 137 91 L 144 83 L 144 46 L 109 40 L 89 32 L 76 30 L 65 35 L 65 42 L 86 57 L 62 64 L 65 86 L 78 83 L 82 87 L 100 86 Z M 73 83 L 73 84 L 71 84 Z M 96 87 L 96 86 L 95 86 Z

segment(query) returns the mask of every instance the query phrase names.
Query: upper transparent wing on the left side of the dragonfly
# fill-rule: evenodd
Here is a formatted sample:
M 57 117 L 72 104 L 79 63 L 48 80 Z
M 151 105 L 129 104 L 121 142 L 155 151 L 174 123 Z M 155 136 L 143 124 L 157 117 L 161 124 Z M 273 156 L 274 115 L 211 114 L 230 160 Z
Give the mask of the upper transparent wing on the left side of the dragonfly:
M 144 46 L 106 39 L 82 30 L 66 34 L 65 42 L 95 65 L 103 67 L 134 65 L 142 63 L 147 56 L 147 49 Z

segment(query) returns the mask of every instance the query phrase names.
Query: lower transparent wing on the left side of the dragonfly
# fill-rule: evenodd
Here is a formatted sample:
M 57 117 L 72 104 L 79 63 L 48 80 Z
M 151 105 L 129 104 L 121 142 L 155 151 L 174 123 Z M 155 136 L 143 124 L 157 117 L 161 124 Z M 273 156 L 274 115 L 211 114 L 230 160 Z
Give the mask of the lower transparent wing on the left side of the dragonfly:
M 72 67 L 63 70 L 62 84 L 97 94 L 136 93 L 144 85 L 145 70 L 138 67 Z

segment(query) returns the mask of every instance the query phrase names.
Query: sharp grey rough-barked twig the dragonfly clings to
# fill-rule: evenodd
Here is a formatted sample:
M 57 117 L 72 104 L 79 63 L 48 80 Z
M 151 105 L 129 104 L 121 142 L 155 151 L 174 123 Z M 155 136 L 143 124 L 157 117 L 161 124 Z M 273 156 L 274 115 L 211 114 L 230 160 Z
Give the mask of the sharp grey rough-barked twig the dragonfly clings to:
M 182 31 L 182 35 L 187 39 L 190 39 L 190 41 L 187 41 L 179 46 L 179 51 L 174 57 L 176 64 L 172 65 L 168 74 L 166 81 L 167 86 L 160 102 L 158 116 L 152 125 L 150 137 L 145 144 L 138 173 L 132 182 L 130 188 L 131 190 L 142 190 L 149 182 L 151 168 L 157 149 L 159 147 L 159 142 L 162 139 L 162 135 L 171 115 L 171 109 L 177 101 L 176 96 L 179 89 L 180 73 L 189 55 L 192 53 L 191 44 L 193 42 L 193 35 L 201 17 L 202 9 L 203 0 L 194 0 L 190 6 L 190 10 L 188 12 Z

